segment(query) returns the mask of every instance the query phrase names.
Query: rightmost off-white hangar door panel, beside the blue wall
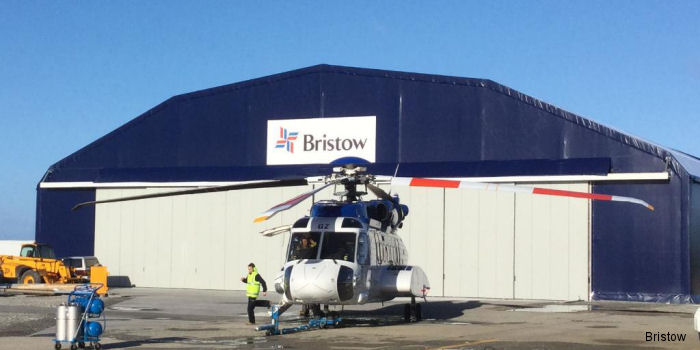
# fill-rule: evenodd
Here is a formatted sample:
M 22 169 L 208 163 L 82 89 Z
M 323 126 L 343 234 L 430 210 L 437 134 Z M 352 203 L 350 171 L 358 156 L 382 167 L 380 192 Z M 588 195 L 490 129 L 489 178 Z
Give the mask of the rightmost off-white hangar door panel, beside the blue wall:
M 587 184 L 538 187 L 588 191 Z M 516 195 L 515 298 L 588 300 L 588 201 Z

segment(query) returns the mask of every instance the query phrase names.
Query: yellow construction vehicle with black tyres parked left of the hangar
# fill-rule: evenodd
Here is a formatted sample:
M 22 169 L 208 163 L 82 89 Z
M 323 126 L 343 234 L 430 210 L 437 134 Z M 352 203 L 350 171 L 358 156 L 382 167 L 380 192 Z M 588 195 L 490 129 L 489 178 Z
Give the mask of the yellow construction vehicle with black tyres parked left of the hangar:
M 38 243 L 23 244 L 19 256 L 0 255 L 0 279 L 20 284 L 84 281 L 56 259 L 50 245 Z

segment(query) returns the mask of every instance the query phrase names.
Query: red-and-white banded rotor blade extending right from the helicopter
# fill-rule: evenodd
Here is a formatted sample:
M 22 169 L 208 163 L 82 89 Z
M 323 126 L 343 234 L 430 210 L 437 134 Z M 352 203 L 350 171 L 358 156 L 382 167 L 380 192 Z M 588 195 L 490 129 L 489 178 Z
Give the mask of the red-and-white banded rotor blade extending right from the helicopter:
M 585 199 L 592 199 L 592 200 L 599 200 L 599 201 L 628 202 L 628 203 L 639 204 L 641 206 L 646 207 L 649 210 L 654 210 L 654 207 L 651 204 L 649 204 L 641 199 L 638 199 L 638 198 L 613 196 L 613 195 L 602 194 L 602 193 L 586 193 L 586 192 L 576 192 L 576 191 L 554 190 L 554 189 L 542 188 L 542 187 L 495 184 L 495 183 L 487 183 L 487 182 L 468 182 L 468 181 L 458 181 L 458 180 L 423 179 L 423 178 L 417 178 L 417 177 L 395 177 L 391 180 L 391 184 L 398 185 L 398 186 L 413 186 L 413 187 L 469 188 L 469 189 L 474 189 L 474 190 L 507 191 L 507 192 L 542 194 L 542 195 L 547 195 L 547 196 L 585 198 Z

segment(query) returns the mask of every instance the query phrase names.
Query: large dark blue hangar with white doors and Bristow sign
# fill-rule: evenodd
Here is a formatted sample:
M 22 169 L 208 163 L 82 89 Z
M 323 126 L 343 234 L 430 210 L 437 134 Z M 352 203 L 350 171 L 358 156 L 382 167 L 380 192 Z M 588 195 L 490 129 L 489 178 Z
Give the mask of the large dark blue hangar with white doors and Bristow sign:
M 308 205 L 274 188 L 76 203 L 241 181 L 319 176 L 335 159 L 372 174 L 470 178 L 629 196 L 643 206 L 525 193 L 391 188 L 399 233 L 431 294 L 545 300 L 700 300 L 700 160 L 485 79 L 318 65 L 172 97 L 49 167 L 36 240 L 96 255 L 139 286 L 242 289 L 274 278 Z M 321 193 L 314 200 L 330 197 Z

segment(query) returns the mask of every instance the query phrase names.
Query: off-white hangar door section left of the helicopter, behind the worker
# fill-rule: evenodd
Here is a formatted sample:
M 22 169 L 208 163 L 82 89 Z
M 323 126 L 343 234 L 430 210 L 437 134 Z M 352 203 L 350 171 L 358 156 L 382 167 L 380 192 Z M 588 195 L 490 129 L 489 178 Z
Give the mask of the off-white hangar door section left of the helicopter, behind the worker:
M 98 204 L 95 255 L 110 275 L 128 276 L 140 287 L 243 290 L 240 278 L 255 262 L 268 283 L 284 262 L 287 235 L 259 232 L 308 215 L 299 205 L 253 223 L 270 207 L 310 186 L 206 193 Z M 98 189 L 100 199 L 134 196 L 158 189 Z

